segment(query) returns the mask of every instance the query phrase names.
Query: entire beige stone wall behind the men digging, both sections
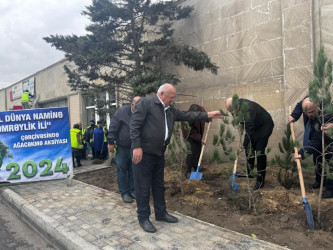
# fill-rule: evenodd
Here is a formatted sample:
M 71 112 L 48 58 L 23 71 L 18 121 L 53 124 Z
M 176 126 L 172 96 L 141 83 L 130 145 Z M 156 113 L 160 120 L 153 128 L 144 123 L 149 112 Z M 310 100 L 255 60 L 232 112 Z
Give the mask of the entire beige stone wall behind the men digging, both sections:
M 225 98 L 236 93 L 253 100 L 273 117 L 270 155 L 278 153 L 288 107 L 306 96 L 313 77 L 316 32 L 328 54 L 333 54 L 333 1 L 317 3 L 322 28 L 313 24 L 316 12 L 311 0 L 187 0 L 183 4 L 195 9 L 190 18 L 175 23 L 175 38 L 205 51 L 220 69 L 215 76 L 173 68 L 182 81 L 177 86 L 177 106 L 187 110 L 197 103 L 206 110 L 225 110 Z M 218 126 L 219 122 L 213 123 L 210 138 Z M 295 129 L 300 138 L 302 123 Z M 211 152 L 208 146 L 206 157 Z

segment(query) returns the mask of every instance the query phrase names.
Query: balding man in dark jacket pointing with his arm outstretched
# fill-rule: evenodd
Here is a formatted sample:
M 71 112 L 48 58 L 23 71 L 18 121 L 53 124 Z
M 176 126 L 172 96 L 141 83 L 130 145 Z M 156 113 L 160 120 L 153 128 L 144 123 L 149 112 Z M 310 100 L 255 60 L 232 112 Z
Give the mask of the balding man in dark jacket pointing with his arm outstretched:
M 133 170 L 139 224 L 144 231 L 156 229 L 149 221 L 150 188 L 154 198 L 155 218 L 176 223 L 178 219 L 166 211 L 164 197 L 164 152 L 170 142 L 175 121 L 223 118 L 220 111 L 183 112 L 170 106 L 176 89 L 165 83 L 156 95 L 141 98 L 135 105 L 131 119 L 130 136 L 133 148 Z

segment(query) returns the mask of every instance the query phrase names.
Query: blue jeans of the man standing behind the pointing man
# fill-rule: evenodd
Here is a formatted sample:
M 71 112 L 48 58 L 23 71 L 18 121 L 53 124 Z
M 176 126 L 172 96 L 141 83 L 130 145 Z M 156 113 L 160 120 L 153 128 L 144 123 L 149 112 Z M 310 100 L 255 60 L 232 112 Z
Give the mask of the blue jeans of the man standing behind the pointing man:
M 131 149 L 117 147 L 117 181 L 121 195 L 134 192 Z

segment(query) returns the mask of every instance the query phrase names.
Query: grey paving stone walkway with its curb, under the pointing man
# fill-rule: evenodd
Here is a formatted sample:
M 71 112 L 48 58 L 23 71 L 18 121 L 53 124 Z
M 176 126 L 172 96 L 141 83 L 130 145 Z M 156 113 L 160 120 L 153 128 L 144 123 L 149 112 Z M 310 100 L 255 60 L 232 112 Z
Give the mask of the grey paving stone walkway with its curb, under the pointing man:
M 146 233 L 135 203 L 76 180 L 72 186 L 58 180 L 7 187 L 3 195 L 21 218 L 63 249 L 285 249 L 179 213 L 173 213 L 177 224 L 151 216 L 157 232 Z

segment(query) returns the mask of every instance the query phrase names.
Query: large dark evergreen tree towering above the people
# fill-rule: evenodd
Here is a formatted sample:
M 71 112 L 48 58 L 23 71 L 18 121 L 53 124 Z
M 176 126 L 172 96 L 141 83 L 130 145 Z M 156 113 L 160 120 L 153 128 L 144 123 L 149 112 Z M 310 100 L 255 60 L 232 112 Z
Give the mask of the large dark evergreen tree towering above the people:
M 97 89 L 130 100 L 169 82 L 180 82 L 166 65 L 194 70 L 218 67 L 204 52 L 175 41 L 173 22 L 189 17 L 191 6 L 178 1 L 93 0 L 83 15 L 91 20 L 87 35 L 50 35 L 44 40 L 64 51 L 72 90 Z

